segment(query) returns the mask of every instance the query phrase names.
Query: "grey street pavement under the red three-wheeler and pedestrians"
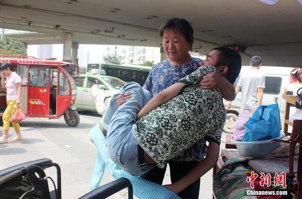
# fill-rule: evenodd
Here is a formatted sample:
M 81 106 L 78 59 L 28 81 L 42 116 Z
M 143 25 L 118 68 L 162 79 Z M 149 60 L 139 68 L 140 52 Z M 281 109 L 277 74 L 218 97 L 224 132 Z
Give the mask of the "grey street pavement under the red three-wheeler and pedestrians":
M 90 142 L 90 129 L 100 121 L 97 113 L 80 112 L 80 124 L 68 126 L 63 117 L 59 119 L 26 118 L 20 123 L 25 140 L 16 143 L 0 144 L 0 170 L 40 158 L 49 158 L 61 167 L 62 198 L 78 198 L 90 191 L 90 180 L 96 160 L 97 148 Z M 2 135 L 2 128 L 0 135 Z M 11 127 L 9 139 L 15 136 Z M 45 170 L 46 175 L 56 178 L 55 168 Z M 102 183 L 114 178 L 105 172 Z M 56 181 L 56 180 L 55 180 Z M 164 184 L 170 182 L 169 167 L 165 174 Z M 201 178 L 199 198 L 212 198 L 212 171 Z M 53 189 L 49 183 L 50 189 Z M 111 199 L 127 198 L 127 190 L 121 190 Z M 136 198 L 136 197 L 134 197 Z

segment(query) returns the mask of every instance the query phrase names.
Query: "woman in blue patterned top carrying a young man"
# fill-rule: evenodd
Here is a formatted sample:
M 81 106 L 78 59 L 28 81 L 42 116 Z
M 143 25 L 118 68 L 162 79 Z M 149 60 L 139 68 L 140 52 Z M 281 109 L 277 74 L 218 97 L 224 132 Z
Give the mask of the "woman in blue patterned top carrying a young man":
M 155 64 L 149 73 L 144 84 L 144 88 L 155 96 L 157 93 L 165 90 L 169 86 L 177 83 L 181 78 L 191 74 L 199 67 L 198 58 L 192 58 L 189 51 L 192 49 L 194 42 L 193 29 L 190 23 L 183 18 L 171 18 L 160 29 L 160 36 L 163 40 L 163 49 L 168 57 L 167 60 Z M 205 65 L 215 66 L 217 57 L 208 57 L 204 60 Z M 219 63 L 217 63 L 219 64 Z M 203 65 L 203 63 L 201 63 Z M 199 83 L 203 89 L 217 89 L 222 92 L 225 100 L 234 100 L 235 88 L 224 77 L 217 73 L 206 75 Z M 122 93 L 117 97 L 117 106 L 125 103 L 131 94 Z M 106 118 L 102 119 L 105 120 Z M 101 128 L 104 131 L 104 129 Z M 191 172 L 204 158 L 206 154 L 205 140 L 196 142 L 186 151 L 172 158 L 168 163 L 170 166 L 171 182 L 174 184 L 181 178 Z M 162 184 L 165 168 L 155 167 L 141 177 Z M 195 180 L 184 190 L 174 190 L 183 198 L 198 198 L 200 178 Z

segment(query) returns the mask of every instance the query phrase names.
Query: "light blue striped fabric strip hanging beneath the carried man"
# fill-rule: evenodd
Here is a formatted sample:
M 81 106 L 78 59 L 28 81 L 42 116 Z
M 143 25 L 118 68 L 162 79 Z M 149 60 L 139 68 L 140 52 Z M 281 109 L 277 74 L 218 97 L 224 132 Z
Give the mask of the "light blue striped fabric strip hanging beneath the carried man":
M 165 188 L 164 186 L 137 176 L 130 175 L 129 173 L 123 171 L 119 166 L 117 166 L 108 155 L 106 137 L 101 132 L 99 126 L 100 124 L 95 125 L 90 131 L 91 139 L 99 150 L 91 180 L 92 189 L 100 186 L 106 165 L 108 171 L 114 178 L 118 179 L 120 177 L 126 177 L 131 181 L 131 184 L 133 186 L 133 194 L 138 198 L 180 199 L 178 195 Z

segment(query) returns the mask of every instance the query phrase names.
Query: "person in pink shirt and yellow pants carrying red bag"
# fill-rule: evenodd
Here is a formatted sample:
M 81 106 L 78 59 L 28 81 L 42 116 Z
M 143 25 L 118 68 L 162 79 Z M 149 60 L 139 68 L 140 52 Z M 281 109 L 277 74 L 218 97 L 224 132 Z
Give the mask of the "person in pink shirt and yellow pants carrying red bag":
M 3 114 L 3 135 L 0 137 L 0 143 L 7 143 L 10 129 L 10 119 L 15 104 L 21 104 L 21 77 L 13 71 L 13 66 L 10 63 L 3 63 L 0 67 L 1 71 L 1 87 L 7 89 L 7 108 Z M 19 123 L 12 122 L 17 133 L 11 142 L 22 141 L 23 138 L 20 132 Z

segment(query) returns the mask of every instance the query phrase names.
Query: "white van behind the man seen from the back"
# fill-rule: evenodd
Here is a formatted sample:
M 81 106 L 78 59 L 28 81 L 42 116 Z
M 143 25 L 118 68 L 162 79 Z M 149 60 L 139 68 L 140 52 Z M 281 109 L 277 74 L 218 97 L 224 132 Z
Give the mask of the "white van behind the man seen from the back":
M 282 92 L 284 86 L 288 83 L 290 71 L 293 68 L 290 67 L 274 67 L 274 66 L 261 66 L 260 71 L 265 75 L 265 89 L 263 93 L 262 105 L 278 103 L 281 117 L 281 127 L 283 124 L 285 100 L 282 98 Z M 242 73 L 251 70 L 251 66 L 242 66 L 240 74 L 234 83 L 236 88 L 239 77 Z M 223 131 L 226 133 L 232 133 L 234 122 L 238 118 L 238 115 L 242 112 L 241 109 L 241 92 L 236 95 L 235 100 L 232 102 L 231 109 L 226 114 L 226 120 L 223 127 Z M 228 101 L 223 100 L 224 105 L 228 104 Z

